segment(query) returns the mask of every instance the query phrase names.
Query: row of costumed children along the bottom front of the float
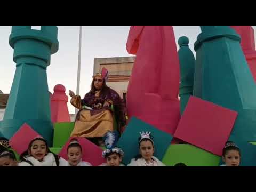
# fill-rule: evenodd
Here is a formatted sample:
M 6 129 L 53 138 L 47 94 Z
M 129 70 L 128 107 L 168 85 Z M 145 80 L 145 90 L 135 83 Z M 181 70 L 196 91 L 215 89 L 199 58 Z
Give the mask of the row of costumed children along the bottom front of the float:
M 116 146 L 118 141 L 117 132 L 108 132 L 103 137 L 106 149 L 102 157 L 106 163 L 99 166 L 125 166 L 123 161 L 124 151 Z M 154 140 L 150 132 L 140 133 L 138 140 L 139 154 L 136 155 L 127 166 L 165 166 L 154 156 Z M 70 140 L 67 147 L 67 161 L 54 154 L 49 149 L 47 142 L 42 137 L 36 137 L 30 141 L 28 149 L 24 151 L 19 159 L 17 154 L 10 147 L 9 141 L 0 138 L 0 166 L 92 166 L 89 162 L 82 161 L 83 149 L 77 139 Z M 221 166 L 239 166 L 241 152 L 234 142 L 226 142 L 223 148 Z M 187 166 L 184 163 L 177 163 L 174 166 Z

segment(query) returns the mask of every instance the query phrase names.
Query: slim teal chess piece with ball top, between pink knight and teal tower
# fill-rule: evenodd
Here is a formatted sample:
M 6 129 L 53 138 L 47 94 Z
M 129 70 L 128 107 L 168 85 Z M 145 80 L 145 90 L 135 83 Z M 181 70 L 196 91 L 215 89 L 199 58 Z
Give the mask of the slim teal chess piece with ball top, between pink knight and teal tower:
M 180 49 L 178 51 L 180 60 L 180 113 L 183 114 L 188 99 L 193 95 L 195 57 L 188 46 L 188 37 L 182 36 L 178 40 Z

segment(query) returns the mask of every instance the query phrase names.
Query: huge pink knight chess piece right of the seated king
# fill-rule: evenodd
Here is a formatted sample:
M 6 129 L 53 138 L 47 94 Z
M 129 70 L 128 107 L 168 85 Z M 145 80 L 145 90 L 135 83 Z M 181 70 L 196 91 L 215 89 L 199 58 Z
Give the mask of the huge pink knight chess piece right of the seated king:
M 180 120 L 180 69 L 172 26 L 131 26 L 126 49 L 136 55 L 127 91 L 129 118 L 173 134 Z

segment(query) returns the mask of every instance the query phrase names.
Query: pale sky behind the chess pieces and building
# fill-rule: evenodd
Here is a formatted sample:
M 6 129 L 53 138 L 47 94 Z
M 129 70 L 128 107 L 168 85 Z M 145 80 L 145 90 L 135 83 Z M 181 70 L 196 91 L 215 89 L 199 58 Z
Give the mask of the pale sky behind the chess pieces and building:
M 40 26 L 33 26 L 39 29 Z M 47 67 L 49 91 L 57 84 L 62 84 L 68 90 L 76 92 L 79 26 L 57 26 L 59 51 L 51 55 L 51 65 Z M 256 26 L 252 26 L 254 30 Z M 80 93 L 83 97 L 90 90 L 93 75 L 94 58 L 129 57 L 126 51 L 126 41 L 130 26 L 83 26 L 81 83 Z M 194 52 L 193 45 L 201 33 L 199 26 L 173 26 L 176 42 L 179 37 L 189 38 L 189 47 Z M 254 31 L 255 33 L 255 31 Z M 11 26 L 0 26 L 0 90 L 10 93 L 15 73 L 13 49 L 9 45 Z M 177 49 L 179 46 L 177 44 Z M 69 113 L 75 113 L 75 108 L 68 102 Z

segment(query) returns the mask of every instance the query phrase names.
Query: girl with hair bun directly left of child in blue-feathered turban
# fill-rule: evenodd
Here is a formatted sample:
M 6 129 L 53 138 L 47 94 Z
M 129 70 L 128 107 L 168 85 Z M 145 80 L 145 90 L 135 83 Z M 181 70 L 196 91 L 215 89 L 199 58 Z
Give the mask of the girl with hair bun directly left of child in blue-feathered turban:
M 82 146 L 77 139 L 73 138 L 70 140 L 67 153 L 67 166 L 92 166 L 90 163 L 82 161 Z

